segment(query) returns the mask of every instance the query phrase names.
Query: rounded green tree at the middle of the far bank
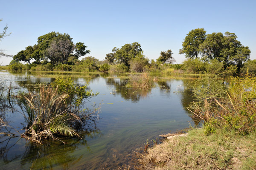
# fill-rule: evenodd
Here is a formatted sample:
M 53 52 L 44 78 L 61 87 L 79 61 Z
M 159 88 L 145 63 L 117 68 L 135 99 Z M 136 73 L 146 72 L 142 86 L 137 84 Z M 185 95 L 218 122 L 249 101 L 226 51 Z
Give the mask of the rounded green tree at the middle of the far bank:
M 141 46 L 138 42 L 133 42 L 132 44 L 123 45 L 120 49 L 117 48 L 115 58 L 119 63 L 123 63 L 129 68 L 131 59 L 139 54 L 142 54 Z

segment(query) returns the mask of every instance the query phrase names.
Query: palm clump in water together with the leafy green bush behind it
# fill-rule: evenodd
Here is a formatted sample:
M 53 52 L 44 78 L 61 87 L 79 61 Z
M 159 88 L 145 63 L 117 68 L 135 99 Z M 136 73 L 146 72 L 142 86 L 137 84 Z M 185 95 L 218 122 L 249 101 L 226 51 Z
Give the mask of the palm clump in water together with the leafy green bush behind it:
M 80 138 L 78 132 L 87 120 L 99 118 L 97 110 L 83 109 L 84 100 L 96 96 L 86 88 L 59 78 L 48 87 L 41 85 L 38 93 L 20 92 L 17 97 L 27 123 L 22 136 L 38 143 L 42 139 L 59 140 L 56 135 Z

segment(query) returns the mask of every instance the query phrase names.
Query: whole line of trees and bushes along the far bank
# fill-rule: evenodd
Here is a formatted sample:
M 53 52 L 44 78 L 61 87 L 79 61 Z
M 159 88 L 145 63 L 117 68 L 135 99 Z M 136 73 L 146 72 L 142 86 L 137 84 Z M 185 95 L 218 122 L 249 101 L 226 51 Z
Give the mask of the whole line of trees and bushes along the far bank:
M 38 43 L 18 52 L 9 68 L 13 70 L 75 71 L 75 72 L 153 72 L 164 74 L 226 74 L 245 73 L 247 68 L 256 74 L 256 60 L 250 60 L 250 49 L 236 40 L 234 33 L 206 34 L 204 28 L 190 31 L 180 54 L 186 55 L 183 64 L 173 64 L 172 50 L 161 51 L 155 61 L 143 54 L 138 42 L 114 47 L 105 60 L 79 57 L 90 54 L 83 42 L 73 43 L 69 34 L 51 32 L 38 37 Z M 20 63 L 27 62 L 23 65 Z M 31 62 L 33 61 L 33 62 Z

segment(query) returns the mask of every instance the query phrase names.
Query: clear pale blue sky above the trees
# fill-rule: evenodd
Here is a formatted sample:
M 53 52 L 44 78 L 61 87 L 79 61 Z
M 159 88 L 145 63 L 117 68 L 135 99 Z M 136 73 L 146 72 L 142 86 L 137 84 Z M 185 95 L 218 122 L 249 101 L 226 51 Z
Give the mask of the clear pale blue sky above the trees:
M 235 33 L 256 59 L 256 0 L 0 0 L 0 31 L 12 33 L 0 41 L 0 49 L 16 55 L 41 35 L 67 33 L 73 42 L 84 42 L 90 54 L 103 60 L 114 47 L 139 42 L 143 54 L 157 59 L 171 49 L 178 54 L 192 29 Z M 8 65 L 12 57 L 1 57 Z

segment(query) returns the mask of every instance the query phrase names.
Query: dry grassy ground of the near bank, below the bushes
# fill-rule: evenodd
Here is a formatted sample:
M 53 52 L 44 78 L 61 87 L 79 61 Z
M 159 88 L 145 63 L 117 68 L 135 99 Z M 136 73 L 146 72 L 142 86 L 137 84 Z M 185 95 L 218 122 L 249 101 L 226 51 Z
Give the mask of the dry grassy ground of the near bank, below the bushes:
M 256 169 L 256 132 L 245 136 L 224 129 L 206 136 L 204 128 L 189 130 L 148 149 L 139 161 L 144 170 Z

